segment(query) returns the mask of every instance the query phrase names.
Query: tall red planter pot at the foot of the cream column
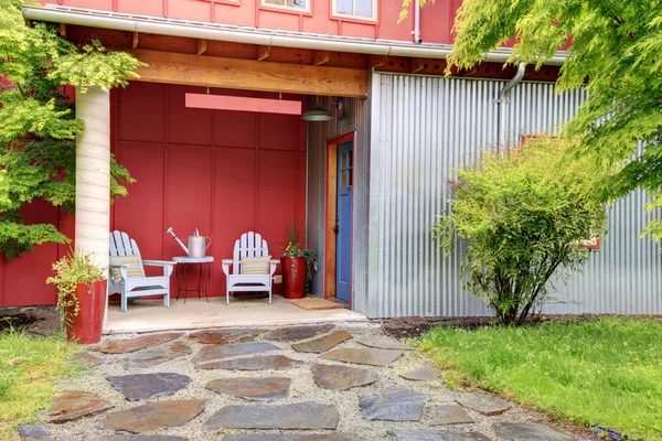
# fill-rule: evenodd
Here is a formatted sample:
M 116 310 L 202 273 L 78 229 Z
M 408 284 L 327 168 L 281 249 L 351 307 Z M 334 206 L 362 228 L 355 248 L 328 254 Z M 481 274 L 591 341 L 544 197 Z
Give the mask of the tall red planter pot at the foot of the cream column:
M 106 280 L 78 283 L 76 295 L 81 309 L 78 315 L 71 318 L 70 323 L 66 323 L 68 340 L 78 344 L 98 343 L 102 340 L 104 310 L 106 309 Z

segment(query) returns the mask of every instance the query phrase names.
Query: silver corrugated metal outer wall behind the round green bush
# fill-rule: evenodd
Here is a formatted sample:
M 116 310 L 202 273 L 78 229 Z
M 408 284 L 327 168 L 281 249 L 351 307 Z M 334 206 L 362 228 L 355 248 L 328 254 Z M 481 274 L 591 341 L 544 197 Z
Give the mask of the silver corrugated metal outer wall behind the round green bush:
M 482 315 L 488 309 L 461 289 L 461 245 L 444 258 L 430 241 L 447 208 L 445 180 L 498 140 L 554 130 L 584 100 L 552 84 L 523 83 L 494 104 L 504 82 L 374 74 L 371 95 L 369 316 Z M 498 127 L 501 129 L 498 132 Z M 500 133 L 500 135 L 498 135 Z M 659 246 L 638 238 L 650 215 L 636 193 L 610 209 L 602 249 L 546 311 L 662 313 Z M 570 303 L 568 303 L 570 302 Z

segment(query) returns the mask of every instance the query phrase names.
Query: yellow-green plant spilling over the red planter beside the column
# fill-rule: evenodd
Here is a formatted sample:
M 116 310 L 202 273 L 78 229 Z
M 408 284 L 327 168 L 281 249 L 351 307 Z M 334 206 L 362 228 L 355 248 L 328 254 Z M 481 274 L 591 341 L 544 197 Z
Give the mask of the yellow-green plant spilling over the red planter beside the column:
M 71 324 L 73 318 L 78 315 L 81 303 L 76 295 L 78 283 L 90 283 L 106 278 L 106 271 L 93 262 L 93 255 L 70 252 L 53 263 L 54 277 L 46 279 L 46 283 L 53 283 L 57 288 L 57 309 L 61 313 L 61 323 Z M 92 287 L 88 286 L 88 293 Z

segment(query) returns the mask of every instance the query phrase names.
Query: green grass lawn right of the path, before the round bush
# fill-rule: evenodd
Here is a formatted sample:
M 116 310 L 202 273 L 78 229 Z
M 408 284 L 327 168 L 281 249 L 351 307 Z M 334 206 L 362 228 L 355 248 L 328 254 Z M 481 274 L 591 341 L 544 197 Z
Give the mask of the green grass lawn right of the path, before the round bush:
M 630 319 L 466 331 L 438 327 L 420 345 L 470 384 L 631 439 L 662 440 L 662 324 Z

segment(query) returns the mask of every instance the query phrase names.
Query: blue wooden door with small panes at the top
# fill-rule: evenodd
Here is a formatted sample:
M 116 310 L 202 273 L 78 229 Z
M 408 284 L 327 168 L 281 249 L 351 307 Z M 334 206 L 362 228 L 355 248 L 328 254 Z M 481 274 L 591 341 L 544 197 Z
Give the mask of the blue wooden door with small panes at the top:
M 353 142 L 338 147 L 338 208 L 335 235 L 335 297 L 352 300 Z

